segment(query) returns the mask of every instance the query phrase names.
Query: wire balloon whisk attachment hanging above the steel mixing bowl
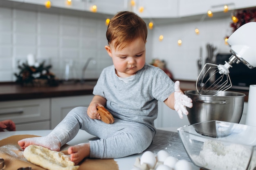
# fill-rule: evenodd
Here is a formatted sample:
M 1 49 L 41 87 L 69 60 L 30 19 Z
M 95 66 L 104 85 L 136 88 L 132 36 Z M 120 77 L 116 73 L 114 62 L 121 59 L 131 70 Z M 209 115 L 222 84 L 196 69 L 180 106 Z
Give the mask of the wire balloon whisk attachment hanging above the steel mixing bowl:
M 236 57 L 232 55 L 229 62 L 222 64 L 206 63 L 198 75 L 196 90 L 200 95 L 217 95 L 221 91 L 231 88 L 232 83 L 229 77 L 229 68 Z

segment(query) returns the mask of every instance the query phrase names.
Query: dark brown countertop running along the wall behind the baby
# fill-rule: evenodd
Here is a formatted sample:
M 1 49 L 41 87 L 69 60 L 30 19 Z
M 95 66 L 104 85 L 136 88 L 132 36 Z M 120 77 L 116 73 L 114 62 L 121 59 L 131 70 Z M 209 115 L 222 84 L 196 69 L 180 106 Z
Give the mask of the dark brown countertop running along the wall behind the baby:
M 60 84 L 56 87 L 26 87 L 14 83 L 0 83 L 0 101 L 92 95 L 93 87 L 96 82 L 97 81 L 94 80 L 83 84 Z M 183 92 L 195 90 L 195 82 L 180 80 L 180 88 Z M 245 93 L 245 102 L 248 101 L 249 91 L 230 91 Z

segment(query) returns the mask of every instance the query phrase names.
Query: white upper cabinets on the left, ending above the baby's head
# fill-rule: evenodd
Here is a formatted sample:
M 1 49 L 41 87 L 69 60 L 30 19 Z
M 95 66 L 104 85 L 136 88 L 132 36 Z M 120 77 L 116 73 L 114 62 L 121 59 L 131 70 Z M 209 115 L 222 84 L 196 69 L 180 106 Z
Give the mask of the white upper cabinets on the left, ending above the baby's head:
M 62 13 L 62 14 L 66 13 L 71 15 L 93 14 L 91 12 L 91 8 L 93 5 L 97 5 L 97 13 L 103 13 L 103 14 L 109 14 L 109 15 L 114 15 L 118 11 L 124 11 L 128 9 L 128 2 L 126 0 L 108 0 L 108 1 L 72 0 L 71 4 L 67 4 L 66 0 L 50 0 L 51 1 L 50 9 L 45 8 L 45 2 L 47 0 L 1 0 L 1 1 L 2 3 L 0 3 L 0 5 L 5 5 L 7 7 L 16 7 L 16 8 L 28 9 L 28 10 L 29 9 L 39 10 L 43 12 L 47 12 L 48 10 L 51 13 L 52 12 Z M 19 2 L 19 3 L 15 3 L 15 2 Z M 23 3 L 20 3 L 20 2 L 23 2 Z

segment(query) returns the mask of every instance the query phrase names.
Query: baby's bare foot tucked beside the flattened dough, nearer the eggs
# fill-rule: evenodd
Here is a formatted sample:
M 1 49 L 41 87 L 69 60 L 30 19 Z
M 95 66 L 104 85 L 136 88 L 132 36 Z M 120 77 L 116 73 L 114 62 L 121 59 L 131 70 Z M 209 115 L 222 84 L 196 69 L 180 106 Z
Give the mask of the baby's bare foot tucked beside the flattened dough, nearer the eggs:
M 70 146 L 67 153 L 70 154 L 70 160 L 77 165 L 84 158 L 90 156 L 90 144 L 86 143 Z

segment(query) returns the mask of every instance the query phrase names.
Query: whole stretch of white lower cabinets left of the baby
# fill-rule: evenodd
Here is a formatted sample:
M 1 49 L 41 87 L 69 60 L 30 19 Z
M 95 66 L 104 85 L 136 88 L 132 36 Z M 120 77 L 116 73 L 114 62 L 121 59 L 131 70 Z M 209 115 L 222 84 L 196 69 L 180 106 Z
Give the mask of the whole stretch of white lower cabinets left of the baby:
M 16 130 L 53 129 L 77 106 L 89 106 L 93 95 L 0 102 L 0 121 L 11 119 Z

